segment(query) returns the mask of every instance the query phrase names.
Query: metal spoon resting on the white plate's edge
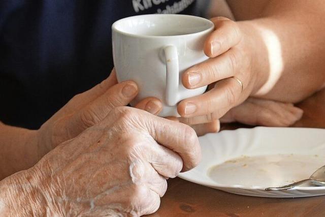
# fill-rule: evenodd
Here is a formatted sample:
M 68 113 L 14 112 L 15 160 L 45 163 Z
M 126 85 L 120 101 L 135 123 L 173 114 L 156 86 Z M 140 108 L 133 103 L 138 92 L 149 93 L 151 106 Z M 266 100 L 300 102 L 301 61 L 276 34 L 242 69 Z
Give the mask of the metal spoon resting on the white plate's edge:
M 266 188 L 265 191 L 288 190 L 307 182 L 311 182 L 313 185 L 316 186 L 325 186 L 325 166 L 322 166 L 317 169 L 308 179 L 304 179 L 280 187 Z

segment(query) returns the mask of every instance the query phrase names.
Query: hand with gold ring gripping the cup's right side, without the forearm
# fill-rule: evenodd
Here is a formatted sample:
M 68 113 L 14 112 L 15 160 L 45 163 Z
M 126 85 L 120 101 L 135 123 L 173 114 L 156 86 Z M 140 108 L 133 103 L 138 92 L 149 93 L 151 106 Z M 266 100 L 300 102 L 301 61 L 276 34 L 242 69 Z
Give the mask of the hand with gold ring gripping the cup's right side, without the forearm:
M 205 94 L 185 99 L 177 107 L 183 121 L 191 124 L 222 117 L 251 95 L 261 77 L 254 70 L 255 45 L 247 35 L 249 29 L 224 17 L 212 21 L 215 30 L 204 47 L 210 59 L 187 69 L 182 75 L 186 88 L 210 85 Z

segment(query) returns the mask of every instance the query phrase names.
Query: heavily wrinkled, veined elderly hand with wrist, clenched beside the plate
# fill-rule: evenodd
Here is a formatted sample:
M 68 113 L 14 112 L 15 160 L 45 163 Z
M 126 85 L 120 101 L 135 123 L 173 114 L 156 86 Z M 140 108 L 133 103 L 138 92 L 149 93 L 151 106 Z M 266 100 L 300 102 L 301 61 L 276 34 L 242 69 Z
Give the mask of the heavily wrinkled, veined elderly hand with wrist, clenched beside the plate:
M 21 210 L 20 216 L 149 214 L 159 207 L 166 179 L 200 159 L 199 141 L 190 127 L 118 107 L 31 169 L 1 181 L 7 197 L 0 200 L 0 209 Z

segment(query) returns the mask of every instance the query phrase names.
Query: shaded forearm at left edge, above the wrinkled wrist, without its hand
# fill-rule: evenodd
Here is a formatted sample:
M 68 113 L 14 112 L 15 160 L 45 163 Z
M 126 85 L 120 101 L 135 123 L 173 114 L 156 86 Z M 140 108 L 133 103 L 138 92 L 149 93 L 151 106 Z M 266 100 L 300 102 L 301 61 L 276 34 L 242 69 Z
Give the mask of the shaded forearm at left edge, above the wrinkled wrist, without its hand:
M 44 155 L 37 131 L 6 126 L 0 122 L 0 180 L 35 165 Z

